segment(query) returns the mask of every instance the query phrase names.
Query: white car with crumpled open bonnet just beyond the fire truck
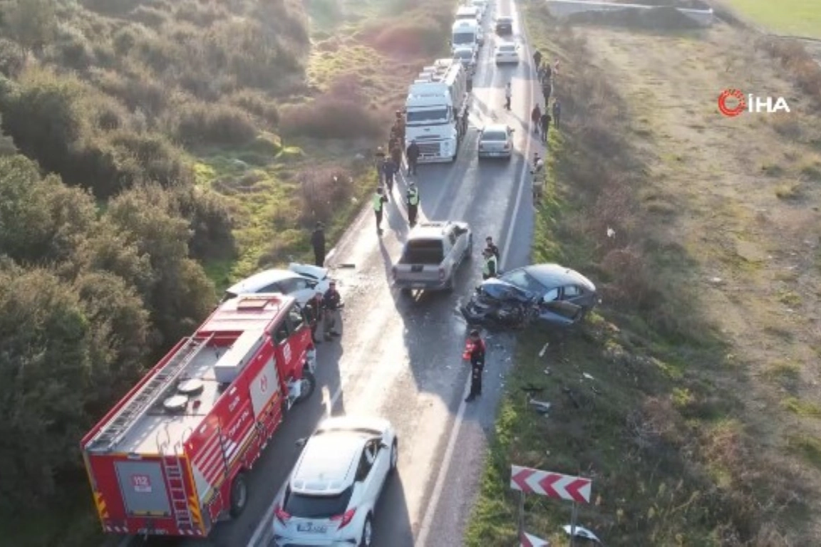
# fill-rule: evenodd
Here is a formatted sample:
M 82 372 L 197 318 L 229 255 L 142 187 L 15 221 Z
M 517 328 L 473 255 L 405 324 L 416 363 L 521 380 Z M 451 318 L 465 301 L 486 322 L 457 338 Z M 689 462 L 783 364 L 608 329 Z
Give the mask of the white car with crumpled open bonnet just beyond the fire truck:
M 222 302 L 236 299 L 237 294 L 281 293 L 293 296 L 305 306 L 317 292 L 325 293 L 331 283 L 328 268 L 291 262 L 287 270 L 265 270 L 228 287 Z

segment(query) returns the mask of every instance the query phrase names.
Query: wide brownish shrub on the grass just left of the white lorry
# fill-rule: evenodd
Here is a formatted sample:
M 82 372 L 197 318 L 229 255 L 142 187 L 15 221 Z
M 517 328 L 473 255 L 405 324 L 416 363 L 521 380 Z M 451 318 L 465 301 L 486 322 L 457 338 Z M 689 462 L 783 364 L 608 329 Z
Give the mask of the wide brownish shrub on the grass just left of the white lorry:
M 314 139 L 374 139 L 382 121 L 361 102 L 323 95 L 312 103 L 282 109 L 282 134 Z

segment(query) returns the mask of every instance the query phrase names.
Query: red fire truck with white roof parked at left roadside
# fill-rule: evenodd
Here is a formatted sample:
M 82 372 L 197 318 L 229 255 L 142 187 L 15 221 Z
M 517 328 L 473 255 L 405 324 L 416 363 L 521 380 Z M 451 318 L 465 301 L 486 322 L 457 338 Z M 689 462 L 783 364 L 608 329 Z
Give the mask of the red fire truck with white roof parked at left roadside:
M 103 530 L 208 536 L 239 515 L 254 465 L 314 391 L 316 351 L 296 300 L 220 304 L 81 441 Z

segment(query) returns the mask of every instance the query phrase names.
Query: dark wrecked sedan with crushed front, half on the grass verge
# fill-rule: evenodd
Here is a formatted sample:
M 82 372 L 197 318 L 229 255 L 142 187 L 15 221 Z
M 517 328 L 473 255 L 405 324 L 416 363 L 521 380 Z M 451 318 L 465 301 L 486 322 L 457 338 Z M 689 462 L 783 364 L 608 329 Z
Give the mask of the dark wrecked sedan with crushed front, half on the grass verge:
M 592 281 L 558 264 L 534 264 L 485 280 L 461 308 L 469 323 L 575 325 L 599 303 Z

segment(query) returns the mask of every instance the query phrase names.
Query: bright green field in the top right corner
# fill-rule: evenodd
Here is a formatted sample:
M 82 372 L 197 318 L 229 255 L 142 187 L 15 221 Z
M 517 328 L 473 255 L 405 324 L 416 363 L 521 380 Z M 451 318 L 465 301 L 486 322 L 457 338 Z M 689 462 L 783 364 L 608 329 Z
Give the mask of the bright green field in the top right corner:
M 776 34 L 821 39 L 821 3 L 815 0 L 723 0 Z

